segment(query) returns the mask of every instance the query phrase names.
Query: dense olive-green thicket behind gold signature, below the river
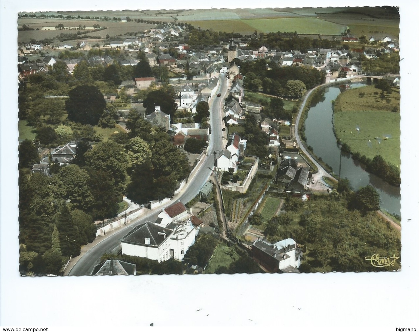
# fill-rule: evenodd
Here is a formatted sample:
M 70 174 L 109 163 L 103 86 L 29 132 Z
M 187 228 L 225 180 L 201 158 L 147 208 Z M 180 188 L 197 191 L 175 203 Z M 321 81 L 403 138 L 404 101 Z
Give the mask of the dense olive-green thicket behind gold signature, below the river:
M 363 202 L 357 205 L 361 211 L 348 209 L 352 195 Z M 268 221 L 265 236 L 271 242 L 291 237 L 310 248 L 301 265 L 304 272 L 314 272 L 317 268 L 322 271 L 397 270 L 400 261 L 395 266 L 377 268 L 365 260 L 372 253 L 400 257 L 400 233 L 385 225 L 375 213 L 378 200 L 372 187 L 361 188 L 352 195 L 343 198 L 331 195 L 304 203 L 300 200 L 301 206 L 296 209 L 290 208 L 295 204 L 287 202 L 284 206 L 287 213 Z

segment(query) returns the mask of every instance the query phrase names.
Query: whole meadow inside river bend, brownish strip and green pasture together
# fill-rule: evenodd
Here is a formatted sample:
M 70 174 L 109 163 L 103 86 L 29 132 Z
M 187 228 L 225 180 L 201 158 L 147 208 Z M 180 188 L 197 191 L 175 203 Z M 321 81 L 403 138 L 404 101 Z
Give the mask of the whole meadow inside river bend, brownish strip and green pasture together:
M 400 114 L 391 112 L 395 106 L 400 106 L 400 93 L 393 88 L 387 102 L 374 94 L 379 91 L 374 86 L 365 86 L 338 96 L 333 116 L 336 136 L 347 143 L 352 152 L 371 159 L 381 155 L 400 166 Z M 365 96 L 361 98 L 360 93 Z

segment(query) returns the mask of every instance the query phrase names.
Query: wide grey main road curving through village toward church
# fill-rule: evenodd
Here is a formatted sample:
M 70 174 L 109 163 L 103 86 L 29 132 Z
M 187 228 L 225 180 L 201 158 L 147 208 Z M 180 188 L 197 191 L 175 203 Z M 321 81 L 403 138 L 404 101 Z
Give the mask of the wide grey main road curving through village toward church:
M 104 237 L 97 238 L 93 241 L 92 244 L 88 244 L 85 249 L 82 248 L 82 253 L 73 258 L 72 266 L 68 275 L 91 275 L 93 267 L 98 264 L 101 256 L 110 252 L 119 245 L 120 240 L 139 224 L 145 223 L 147 220 L 155 221 L 157 219 L 158 213 L 164 208 L 177 200 L 180 200 L 182 203 L 186 204 L 192 198 L 194 198 L 199 190 L 209 179 L 209 176 L 212 172 L 214 166 L 214 151 L 219 151 L 223 148 L 223 134 L 222 129 L 222 117 L 223 117 L 223 103 L 224 97 L 227 93 L 228 82 L 224 75 L 220 75 L 220 87 L 217 93 L 221 93 L 221 97 L 217 97 L 216 94 L 209 102 L 209 111 L 210 111 L 210 122 L 211 122 L 211 135 L 209 140 L 209 146 L 207 149 L 207 156 L 204 156 L 199 162 L 196 171 L 194 174 L 191 174 L 188 182 L 185 184 L 184 188 L 173 199 L 156 208 L 155 210 L 150 210 L 147 215 L 143 215 L 138 218 L 138 220 L 133 221 L 124 228 L 121 228 L 117 231 L 109 233 Z

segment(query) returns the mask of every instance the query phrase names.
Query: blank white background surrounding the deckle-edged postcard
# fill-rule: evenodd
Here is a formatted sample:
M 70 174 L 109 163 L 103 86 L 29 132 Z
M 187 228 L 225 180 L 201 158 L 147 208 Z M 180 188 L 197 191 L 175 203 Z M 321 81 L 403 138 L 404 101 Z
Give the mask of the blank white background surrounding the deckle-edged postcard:
M 416 1 L 350 1 L 400 6 L 402 270 L 378 273 L 20 277 L 18 273 L 18 112 L 16 19 L 26 10 L 266 8 L 345 5 L 336 1 L 87 1 L 2 0 L 0 22 L 0 325 L 273 326 L 302 331 L 396 331 L 416 328 L 418 286 L 418 5 Z M 232 27 L 233 28 L 233 27 Z M 409 222 L 407 219 L 411 219 Z M 91 328 L 89 328 L 91 327 Z M 50 331 L 52 329 L 49 329 Z M 59 329 L 56 329 L 57 331 Z

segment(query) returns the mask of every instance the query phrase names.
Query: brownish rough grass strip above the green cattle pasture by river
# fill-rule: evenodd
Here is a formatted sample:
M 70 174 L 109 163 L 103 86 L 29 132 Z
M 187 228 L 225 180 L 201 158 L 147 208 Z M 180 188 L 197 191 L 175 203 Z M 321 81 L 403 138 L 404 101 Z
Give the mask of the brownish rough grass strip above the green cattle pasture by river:
M 375 88 L 375 86 L 364 86 L 362 88 L 347 90 L 340 93 L 336 98 L 334 111 L 390 112 L 394 106 L 400 106 L 400 89 L 393 88 L 390 95 L 385 95 L 384 100 L 381 100 L 380 92 L 381 90 Z M 360 93 L 365 93 L 365 96 L 360 97 Z M 387 102 L 386 99 L 388 99 L 389 102 Z

